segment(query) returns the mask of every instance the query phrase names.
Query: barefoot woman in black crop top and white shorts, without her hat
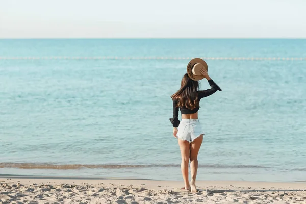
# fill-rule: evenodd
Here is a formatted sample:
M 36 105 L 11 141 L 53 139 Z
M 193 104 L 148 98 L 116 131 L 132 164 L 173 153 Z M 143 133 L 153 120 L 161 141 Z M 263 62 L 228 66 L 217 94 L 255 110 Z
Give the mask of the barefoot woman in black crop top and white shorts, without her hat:
M 198 152 L 203 141 L 203 131 L 198 120 L 199 102 L 203 97 L 215 93 L 217 90 L 222 91 L 220 87 L 209 77 L 207 70 L 201 68 L 199 72 L 203 78 L 208 80 L 211 89 L 198 91 L 198 81 L 190 79 L 186 73 L 181 81 L 181 88 L 174 93 L 173 100 L 173 118 L 170 121 L 173 125 L 173 136 L 178 138 L 181 150 L 182 163 L 181 170 L 185 187 L 182 189 L 196 192 L 196 173 L 198 168 Z M 182 121 L 178 119 L 179 108 L 182 114 Z M 177 129 L 179 127 L 179 129 Z M 188 179 L 188 164 L 190 159 L 191 181 Z

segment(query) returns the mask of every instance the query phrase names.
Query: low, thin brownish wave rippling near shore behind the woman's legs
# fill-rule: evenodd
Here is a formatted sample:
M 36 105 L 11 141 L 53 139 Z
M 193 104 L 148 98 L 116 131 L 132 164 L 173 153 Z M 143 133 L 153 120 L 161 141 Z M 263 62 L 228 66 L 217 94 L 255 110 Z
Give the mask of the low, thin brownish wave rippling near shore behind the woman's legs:
M 19 169 L 126 169 L 126 168 L 157 168 L 157 167 L 180 167 L 180 164 L 150 164 L 150 165 L 120 165 L 120 164 L 46 164 L 46 163 L 0 163 L 0 168 L 19 168 Z M 257 165 L 218 165 L 218 164 L 203 164 L 199 165 L 201 168 L 220 168 L 220 169 L 268 169 L 270 167 Z

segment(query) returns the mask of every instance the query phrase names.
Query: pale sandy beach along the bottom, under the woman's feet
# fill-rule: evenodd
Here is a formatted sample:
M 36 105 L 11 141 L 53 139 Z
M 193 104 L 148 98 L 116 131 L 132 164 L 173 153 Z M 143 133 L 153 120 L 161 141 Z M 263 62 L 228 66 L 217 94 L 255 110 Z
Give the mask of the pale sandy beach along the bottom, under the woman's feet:
M 197 181 L 196 193 L 181 181 L 0 178 L 0 203 L 306 203 L 306 183 Z

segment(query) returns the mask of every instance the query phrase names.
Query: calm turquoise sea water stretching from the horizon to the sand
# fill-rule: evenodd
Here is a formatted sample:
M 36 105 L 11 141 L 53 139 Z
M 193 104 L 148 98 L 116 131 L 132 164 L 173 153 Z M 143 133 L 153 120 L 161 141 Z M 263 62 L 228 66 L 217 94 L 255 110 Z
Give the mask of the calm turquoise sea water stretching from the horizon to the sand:
M 0 40 L 1 57 L 0 174 L 181 180 L 186 57 L 305 59 L 306 40 Z M 304 181 L 306 60 L 206 61 L 222 92 L 201 100 L 198 179 Z

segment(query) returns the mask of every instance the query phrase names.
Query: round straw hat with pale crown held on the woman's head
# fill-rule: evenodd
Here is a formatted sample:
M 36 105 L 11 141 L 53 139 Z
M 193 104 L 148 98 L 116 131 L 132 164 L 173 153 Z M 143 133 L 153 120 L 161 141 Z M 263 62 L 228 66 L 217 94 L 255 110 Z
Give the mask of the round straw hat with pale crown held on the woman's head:
M 200 69 L 202 68 L 208 70 L 208 66 L 204 60 L 200 58 L 192 59 L 187 65 L 187 74 L 190 79 L 194 81 L 203 79 L 204 76 L 200 73 Z

